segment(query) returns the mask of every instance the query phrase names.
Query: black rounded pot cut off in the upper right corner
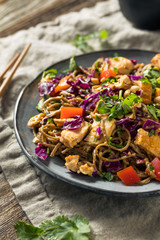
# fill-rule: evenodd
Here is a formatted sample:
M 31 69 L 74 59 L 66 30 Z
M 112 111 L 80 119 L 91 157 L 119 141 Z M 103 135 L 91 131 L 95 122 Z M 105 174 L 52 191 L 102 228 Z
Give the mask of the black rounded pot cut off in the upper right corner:
M 119 0 L 123 15 L 137 28 L 160 29 L 160 0 Z

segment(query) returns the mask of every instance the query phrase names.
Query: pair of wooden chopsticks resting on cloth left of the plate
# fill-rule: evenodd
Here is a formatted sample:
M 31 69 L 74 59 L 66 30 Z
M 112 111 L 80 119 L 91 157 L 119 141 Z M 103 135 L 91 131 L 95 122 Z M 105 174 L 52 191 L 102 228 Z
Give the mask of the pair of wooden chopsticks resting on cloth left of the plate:
M 0 85 L 0 97 L 3 95 L 5 89 L 7 88 L 7 86 L 9 85 L 13 75 L 15 74 L 17 68 L 19 67 L 20 63 L 22 62 L 23 58 L 25 57 L 25 55 L 27 54 L 29 48 L 31 46 L 31 43 L 29 43 L 22 51 L 21 54 L 16 54 L 12 60 L 9 62 L 8 66 L 5 68 L 5 70 L 2 72 L 2 74 L 0 75 L 0 82 L 3 80 L 5 74 L 8 72 L 8 70 L 10 68 L 11 72 L 8 75 L 8 77 L 6 77 L 3 81 L 2 84 Z

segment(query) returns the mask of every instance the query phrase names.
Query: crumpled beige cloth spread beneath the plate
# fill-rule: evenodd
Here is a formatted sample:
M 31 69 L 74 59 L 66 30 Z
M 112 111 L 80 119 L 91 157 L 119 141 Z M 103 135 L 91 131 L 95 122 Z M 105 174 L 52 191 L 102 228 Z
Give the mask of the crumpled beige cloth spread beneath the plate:
M 106 29 L 109 48 L 158 51 L 160 31 L 135 29 L 119 10 L 116 0 L 69 13 L 54 22 L 39 24 L 0 39 L 0 68 L 32 42 L 23 63 L 0 100 L 0 165 L 23 210 L 33 224 L 58 214 L 80 214 L 90 221 L 93 239 L 160 239 L 160 197 L 103 196 L 56 180 L 30 165 L 13 130 L 13 110 L 20 90 L 49 65 L 80 54 L 69 42 L 76 33 Z

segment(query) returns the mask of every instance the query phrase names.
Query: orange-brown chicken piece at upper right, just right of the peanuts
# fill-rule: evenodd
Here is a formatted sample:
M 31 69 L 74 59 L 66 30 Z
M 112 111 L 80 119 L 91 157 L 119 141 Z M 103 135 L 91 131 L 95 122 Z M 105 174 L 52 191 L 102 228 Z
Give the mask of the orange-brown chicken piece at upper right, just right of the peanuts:
M 139 86 L 140 90 L 142 90 L 142 102 L 144 104 L 150 104 L 152 100 L 152 85 L 149 83 L 142 83 L 141 81 L 134 81 L 134 85 Z

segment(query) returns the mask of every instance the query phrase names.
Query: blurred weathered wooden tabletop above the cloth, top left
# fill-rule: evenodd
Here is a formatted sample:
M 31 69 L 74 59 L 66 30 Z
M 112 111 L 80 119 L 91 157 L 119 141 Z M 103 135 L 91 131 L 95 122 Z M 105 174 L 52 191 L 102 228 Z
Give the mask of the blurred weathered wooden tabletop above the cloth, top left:
M 0 37 L 104 0 L 0 0 Z

